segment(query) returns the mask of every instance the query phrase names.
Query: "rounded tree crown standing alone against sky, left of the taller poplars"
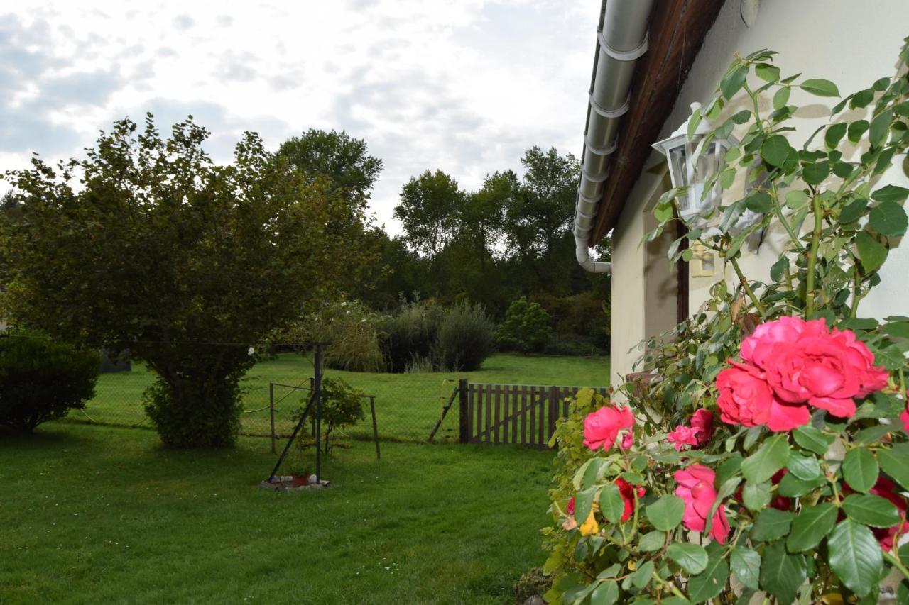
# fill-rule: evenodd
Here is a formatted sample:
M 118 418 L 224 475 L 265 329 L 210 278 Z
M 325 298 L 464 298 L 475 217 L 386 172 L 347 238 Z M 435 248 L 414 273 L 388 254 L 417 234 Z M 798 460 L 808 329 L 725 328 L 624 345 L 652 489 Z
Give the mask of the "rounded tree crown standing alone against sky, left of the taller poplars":
M 451 176 L 427 170 L 405 183 L 395 218 L 404 224 L 415 250 L 435 255 L 454 237 L 465 201 L 466 194 Z

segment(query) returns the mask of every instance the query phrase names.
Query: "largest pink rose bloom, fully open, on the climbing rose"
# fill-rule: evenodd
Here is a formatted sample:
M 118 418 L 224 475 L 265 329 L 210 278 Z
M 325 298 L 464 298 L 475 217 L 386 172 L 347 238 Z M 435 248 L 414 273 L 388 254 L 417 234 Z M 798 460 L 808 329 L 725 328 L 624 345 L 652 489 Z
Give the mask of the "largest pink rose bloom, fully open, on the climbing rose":
M 840 418 L 855 413 L 855 397 L 880 391 L 887 372 L 852 331 L 832 332 L 822 319 L 781 317 L 762 323 L 742 342 L 742 359 L 764 372 L 784 403 L 809 403 Z

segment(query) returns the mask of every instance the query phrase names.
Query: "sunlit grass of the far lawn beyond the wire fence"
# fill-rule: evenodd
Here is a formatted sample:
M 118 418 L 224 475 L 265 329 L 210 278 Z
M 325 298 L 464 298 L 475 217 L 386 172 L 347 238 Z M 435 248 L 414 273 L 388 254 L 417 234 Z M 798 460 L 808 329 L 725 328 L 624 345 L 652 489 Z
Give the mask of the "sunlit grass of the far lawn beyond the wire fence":
M 245 396 L 243 428 L 250 434 L 269 433 L 268 384 L 306 384 L 313 375 L 311 359 L 283 353 L 276 359 L 260 362 L 244 382 Z M 556 357 L 498 354 L 489 357 L 477 372 L 427 372 L 388 374 L 373 372 L 340 372 L 326 370 L 326 376 L 340 376 L 368 395 L 375 396 L 379 432 L 388 437 L 425 440 L 438 420 L 442 407 L 459 378 L 471 382 L 504 384 L 539 384 L 562 386 L 605 386 L 609 380 L 609 360 L 606 357 Z M 139 364 L 133 372 L 104 374 L 98 380 L 97 395 L 88 403 L 85 413 L 74 412 L 77 420 L 148 425 L 142 410 L 142 392 L 154 376 Z M 291 411 L 300 405 L 304 392 L 275 387 L 275 400 L 287 398 L 277 405 L 276 427 L 288 433 L 293 426 Z M 453 439 L 457 430 L 456 406 L 445 418 L 439 437 Z M 360 425 L 354 434 L 364 435 L 370 423 Z

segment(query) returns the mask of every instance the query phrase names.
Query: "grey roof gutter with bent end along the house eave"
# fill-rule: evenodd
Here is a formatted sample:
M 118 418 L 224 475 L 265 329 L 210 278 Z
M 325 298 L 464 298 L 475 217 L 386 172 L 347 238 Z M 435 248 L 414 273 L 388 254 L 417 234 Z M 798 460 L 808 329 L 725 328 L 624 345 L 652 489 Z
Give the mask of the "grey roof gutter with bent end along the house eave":
M 647 21 L 653 0 L 604 0 L 596 33 L 594 74 L 590 83 L 581 183 L 574 204 L 574 255 L 592 273 L 612 273 L 612 263 L 590 258 L 590 232 L 604 181 L 609 176 L 609 156 L 615 151 L 619 119 L 628 111 L 628 91 L 637 59 L 647 51 Z

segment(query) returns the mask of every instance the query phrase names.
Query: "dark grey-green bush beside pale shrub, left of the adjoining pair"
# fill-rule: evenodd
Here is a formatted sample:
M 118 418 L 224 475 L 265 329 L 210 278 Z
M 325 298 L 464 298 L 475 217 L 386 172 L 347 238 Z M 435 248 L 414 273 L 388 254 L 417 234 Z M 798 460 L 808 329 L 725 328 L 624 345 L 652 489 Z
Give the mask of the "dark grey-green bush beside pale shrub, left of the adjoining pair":
M 382 323 L 379 344 L 389 372 L 406 372 L 414 362 L 432 358 L 443 309 L 426 302 L 403 304 L 399 312 Z

